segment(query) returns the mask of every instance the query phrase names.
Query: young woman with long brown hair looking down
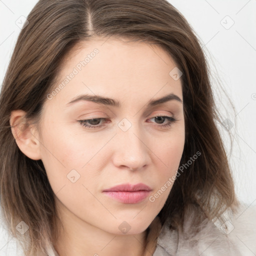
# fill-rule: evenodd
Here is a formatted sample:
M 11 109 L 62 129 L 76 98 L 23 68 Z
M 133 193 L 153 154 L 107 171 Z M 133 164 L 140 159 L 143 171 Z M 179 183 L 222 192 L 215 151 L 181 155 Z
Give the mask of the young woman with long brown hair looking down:
M 39 0 L 27 20 L 0 94 L 2 217 L 24 254 L 245 255 L 251 213 L 184 17 Z

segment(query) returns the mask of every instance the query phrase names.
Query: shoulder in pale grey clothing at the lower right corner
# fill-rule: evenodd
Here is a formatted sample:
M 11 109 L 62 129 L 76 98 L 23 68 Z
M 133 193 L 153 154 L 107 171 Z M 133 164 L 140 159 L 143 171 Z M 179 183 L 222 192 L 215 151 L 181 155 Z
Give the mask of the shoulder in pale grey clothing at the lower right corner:
M 158 255 L 255 255 L 256 205 L 240 204 L 236 212 L 227 210 L 224 222 L 203 219 L 194 223 L 196 211 L 184 216 L 182 228 L 169 228 L 168 219 L 157 239 L 154 256 Z

